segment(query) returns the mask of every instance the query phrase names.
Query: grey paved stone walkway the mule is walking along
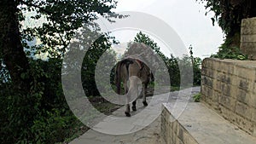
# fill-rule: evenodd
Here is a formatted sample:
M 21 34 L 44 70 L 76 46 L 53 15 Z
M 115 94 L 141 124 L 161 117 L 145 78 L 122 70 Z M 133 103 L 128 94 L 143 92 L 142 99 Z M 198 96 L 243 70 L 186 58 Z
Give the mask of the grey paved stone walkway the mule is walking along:
M 190 94 L 191 92 L 191 94 Z M 137 102 L 137 112 L 131 112 L 131 118 L 125 118 L 124 107 L 113 112 L 111 118 L 105 118 L 93 129 L 88 130 L 72 144 L 164 144 L 160 138 L 161 103 L 166 101 L 184 101 L 200 92 L 200 87 L 183 89 L 164 95 L 148 97 L 148 107 L 142 101 Z M 190 94 L 190 95 L 189 95 Z M 191 100 L 189 100 L 191 101 Z M 97 131 L 96 131 L 97 130 Z M 101 132 L 98 132 L 101 131 Z

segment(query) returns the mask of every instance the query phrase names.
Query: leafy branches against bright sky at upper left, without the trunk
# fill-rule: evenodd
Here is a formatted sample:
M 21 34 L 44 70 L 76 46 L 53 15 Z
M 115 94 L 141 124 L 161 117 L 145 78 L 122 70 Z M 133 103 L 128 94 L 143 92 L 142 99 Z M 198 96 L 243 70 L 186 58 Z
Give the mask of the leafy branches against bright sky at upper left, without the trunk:
M 31 41 L 37 37 L 41 42 L 39 45 L 33 46 L 36 53 L 48 52 L 52 57 L 60 57 L 64 55 L 66 47 L 70 42 L 73 34 L 84 24 L 89 24 L 98 28 L 95 23 L 91 23 L 97 19 L 97 14 L 108 17 L 119 16 L 111 12 L 116 7 L 113 0 L 96 0 L 96 1 L 79 1 L 79 0 L 61 0 L 61 1 L 26 1 L 20 2 L 20 20 L 25 20 L 24 12 L 34 11 L 30 15 L 30 19 L 40 20 L 41 26 L 24 27 L 21 37 L 24 40 Z M 43 20 L 42 20 L 43 19 Z

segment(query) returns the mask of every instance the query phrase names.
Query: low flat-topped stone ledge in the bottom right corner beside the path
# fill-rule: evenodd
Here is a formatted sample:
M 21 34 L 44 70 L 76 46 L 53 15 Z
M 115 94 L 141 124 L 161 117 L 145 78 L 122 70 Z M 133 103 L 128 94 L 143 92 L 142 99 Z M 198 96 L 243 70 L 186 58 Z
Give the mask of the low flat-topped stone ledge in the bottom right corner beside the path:
M 187 105 L 179 116 L 177 103 L 163 104 L 161 132 L 166 144 L 256 144 L 256 138 L 231 124 L 203 103 Z

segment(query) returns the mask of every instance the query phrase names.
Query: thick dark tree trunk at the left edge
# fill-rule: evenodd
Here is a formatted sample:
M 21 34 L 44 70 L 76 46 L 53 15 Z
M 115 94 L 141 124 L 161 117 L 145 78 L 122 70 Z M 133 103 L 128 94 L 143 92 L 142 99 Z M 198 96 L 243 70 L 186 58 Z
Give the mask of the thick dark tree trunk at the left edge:
M 0 49 L 10 78 L 16 89 L 28 89 L 28 80 L 20 77 L 29 68 L 28 59 L 21 44 L 17 1 L 0 2 Z

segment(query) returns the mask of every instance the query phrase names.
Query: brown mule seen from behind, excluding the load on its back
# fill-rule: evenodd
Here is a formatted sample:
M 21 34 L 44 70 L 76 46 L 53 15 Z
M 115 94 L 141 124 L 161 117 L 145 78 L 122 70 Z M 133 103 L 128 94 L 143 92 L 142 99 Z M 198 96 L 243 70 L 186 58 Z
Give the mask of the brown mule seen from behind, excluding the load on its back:
M 131 109 L 137 111 L 136 103 L 137 99 L 143 96 L 144 107 L 148 106 L 146 101 L 146 91 L 148 83 L 152 74 L 149 67 L 144 64 L 141 60 L 134 58 L 126 58 L 117 63 L 115 71 L 115 84 L 117 87 L 117 93 L 121 94 L 121 84 L 125 89 L 125 116 L 131 117 L 130 103 L 131 96 L 135 96 L 136 99 L 132 101 Z M 129 84 L 128 84 L 129 83 Z M 138 95 L 138 86 L 143 84 L 142 95 Z

